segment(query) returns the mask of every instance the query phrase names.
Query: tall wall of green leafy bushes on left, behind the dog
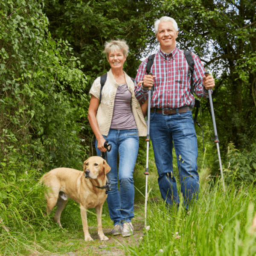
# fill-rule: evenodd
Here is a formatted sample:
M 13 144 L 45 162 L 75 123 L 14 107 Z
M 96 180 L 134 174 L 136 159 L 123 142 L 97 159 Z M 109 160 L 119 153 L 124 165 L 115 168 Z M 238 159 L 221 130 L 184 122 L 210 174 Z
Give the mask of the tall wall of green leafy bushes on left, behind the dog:
M 43 6 L 0 1 L 1 163 L 80 168 L 87 77 L 70 44 L 52 40 Z

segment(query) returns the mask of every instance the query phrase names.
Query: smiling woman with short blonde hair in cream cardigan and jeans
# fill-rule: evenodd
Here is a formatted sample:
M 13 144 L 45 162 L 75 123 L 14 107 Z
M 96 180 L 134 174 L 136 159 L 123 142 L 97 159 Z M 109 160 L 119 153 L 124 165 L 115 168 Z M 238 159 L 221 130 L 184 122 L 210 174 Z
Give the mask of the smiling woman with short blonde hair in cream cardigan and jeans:
M 108 192 L 108 210 L 114 227 L 111 233 L 123 237 L 133 234 L 131 219 L 134 217 L 133 172 L 139 149 L 139 136 L 147 135 L 140 104 L 134 96 L 134 82 L 123 71 L 128 54 L 125 41 L 106 42 L 104 52 L 111 66 L 107 80 L 100 95 L 100 77 L 90 89 L 88 119 L 96 136 L 98 156 L 105 152 L 106 140 L 112 144 L 108 152 L 111 167 L 109 179 L 111 191 Z M 119 169 L 117 171 L 117 155 Z M 119 190 L 118 190 L 119 179 Z

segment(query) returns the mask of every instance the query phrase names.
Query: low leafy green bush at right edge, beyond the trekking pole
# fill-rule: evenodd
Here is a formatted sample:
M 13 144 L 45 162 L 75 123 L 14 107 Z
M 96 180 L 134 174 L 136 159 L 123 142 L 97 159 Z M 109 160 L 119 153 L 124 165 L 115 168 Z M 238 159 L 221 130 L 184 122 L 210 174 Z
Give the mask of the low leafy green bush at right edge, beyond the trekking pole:
M 235 183 L 239 186 L 243 183 L 254 183 L 256 181 L 256 144 L 250 148 L 239 151 L 233 143 L 227 150 L 227 183 Z

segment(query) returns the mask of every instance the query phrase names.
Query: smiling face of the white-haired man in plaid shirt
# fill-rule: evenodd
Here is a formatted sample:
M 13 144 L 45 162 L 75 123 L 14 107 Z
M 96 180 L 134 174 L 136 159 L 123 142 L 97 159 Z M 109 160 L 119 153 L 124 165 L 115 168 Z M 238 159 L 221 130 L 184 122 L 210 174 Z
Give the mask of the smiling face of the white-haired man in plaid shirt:
M 172 21 L 160 22 L 156 36 L 157 41 L 160 43 L 160 48 L 163 51 L 172 51 L 175 48 L 178 32 L 175 32 Z

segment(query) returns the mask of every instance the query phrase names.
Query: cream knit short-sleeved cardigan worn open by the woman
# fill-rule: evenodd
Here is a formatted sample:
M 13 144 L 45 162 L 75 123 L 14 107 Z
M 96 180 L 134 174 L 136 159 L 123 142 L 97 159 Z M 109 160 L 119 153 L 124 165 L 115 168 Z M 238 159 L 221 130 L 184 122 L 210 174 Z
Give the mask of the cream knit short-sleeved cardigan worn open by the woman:
M 134 95 L 134 82 L 125 73 L 125 80 L 128 86 L 128 90 L 131 92 L 131 110 L 134 115 L 134 119 L 138 128 L 139 136 L 147 135 L 147 125 L 143 117 L 143 113 L 139 102 Z M 96 119 L 99 125 L 99 130 L 102 135 L 108 136 L 108 132 L 111 125 L 111 120 L 113 116 L 114 101 L 116 97 L 116 90 L 118 84 L 116 83 L 113 73 L 111 70 L 108 71 L 108 77 L 105 85 L 102 89 L 102 100 L 99 104 L 99 108 L 96 114 Z M 100 77 L 95 79 L 93 85 L 90 89 L 90 96 L 95 96 L 99 99 L 100 94 Z

